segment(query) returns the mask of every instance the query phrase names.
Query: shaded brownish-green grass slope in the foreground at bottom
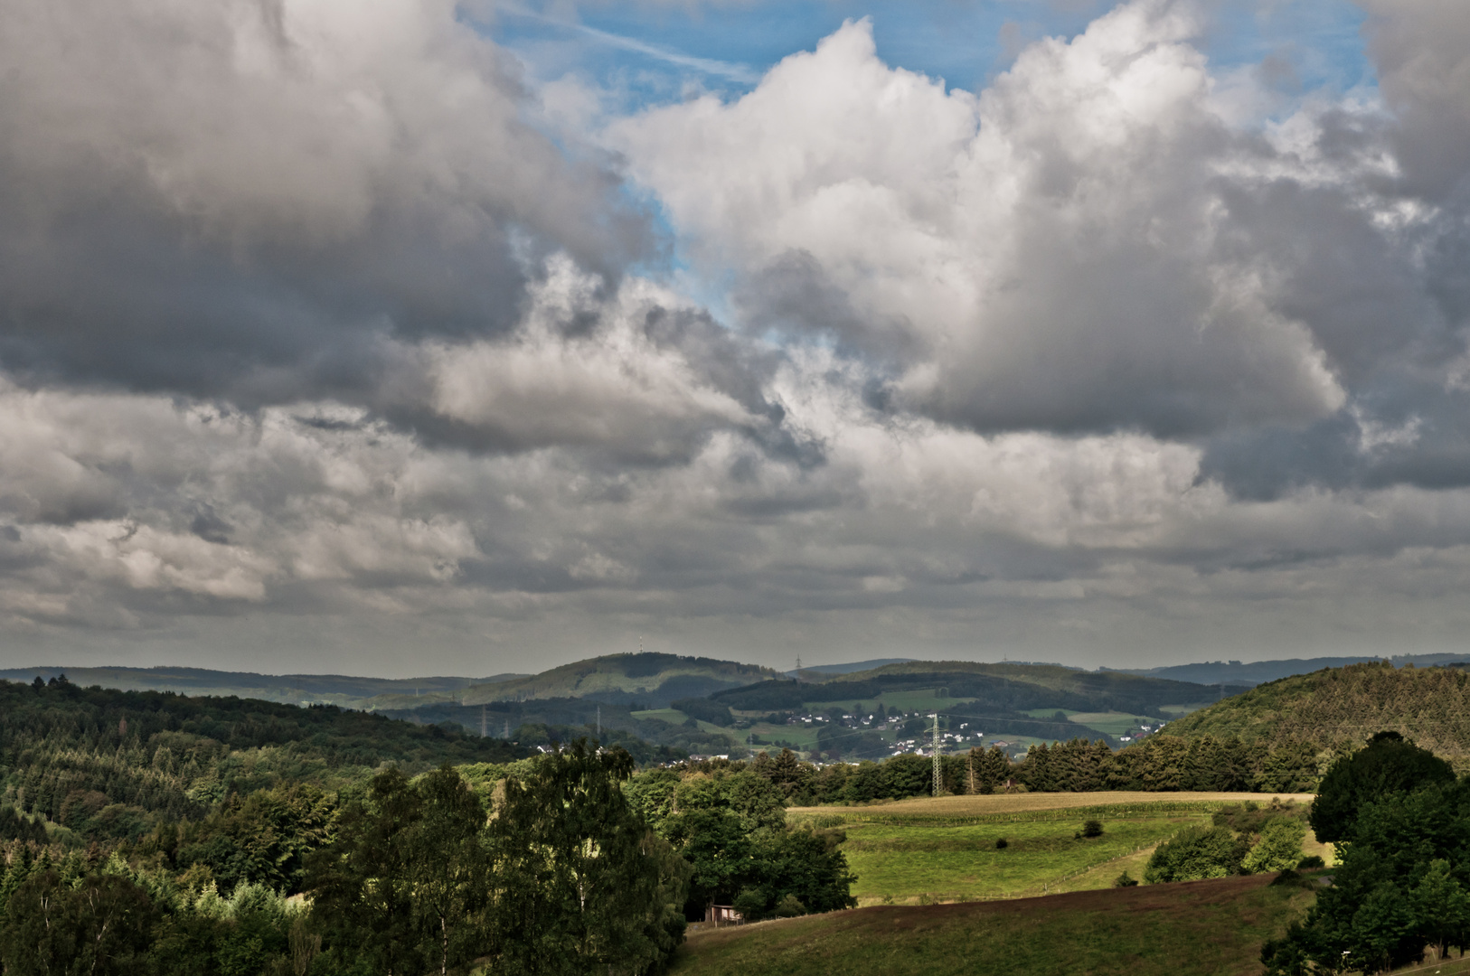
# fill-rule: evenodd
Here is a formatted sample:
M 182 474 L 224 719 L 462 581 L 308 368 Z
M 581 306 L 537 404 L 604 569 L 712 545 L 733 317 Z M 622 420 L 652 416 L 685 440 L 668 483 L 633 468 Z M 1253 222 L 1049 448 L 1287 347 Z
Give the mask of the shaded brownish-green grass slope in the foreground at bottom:
M 1235 976 L 1313 895 L 1272 875 L 948 905 L 875 905 L 695 932 L 678 976 Z

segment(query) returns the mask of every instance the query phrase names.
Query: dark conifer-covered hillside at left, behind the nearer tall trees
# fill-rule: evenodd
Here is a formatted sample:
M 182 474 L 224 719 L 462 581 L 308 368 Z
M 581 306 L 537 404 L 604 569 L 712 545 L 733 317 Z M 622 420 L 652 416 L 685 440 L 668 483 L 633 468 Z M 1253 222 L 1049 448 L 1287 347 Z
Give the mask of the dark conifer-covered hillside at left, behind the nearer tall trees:
M 106 814 L 107 833 L 197 817 L 231 794 L 284 783 L 340 786 L 384 763 L 504 763 L 528 750 L 347 711 L 248 698 L 81 688 L 62 678 L 0 682 L 4 803 L 63 825 Z

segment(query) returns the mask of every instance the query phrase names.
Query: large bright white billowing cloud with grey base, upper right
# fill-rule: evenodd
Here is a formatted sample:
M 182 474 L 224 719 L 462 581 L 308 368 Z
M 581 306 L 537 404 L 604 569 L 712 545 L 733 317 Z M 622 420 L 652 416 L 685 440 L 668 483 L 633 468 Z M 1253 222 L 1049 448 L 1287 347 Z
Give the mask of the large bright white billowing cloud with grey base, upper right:
M 1463 345 L 1414 244 L 1460 235 L 1388 190 L 1369 109 L 1235 125 L 1198 29 L 1189 4 L 1125 4 L 973 96 L 850 22 L 739 100 L 609 141 L 741 282 L 750 328 L 883 363 L 897 406 L 979 431 L 1302 429 Z

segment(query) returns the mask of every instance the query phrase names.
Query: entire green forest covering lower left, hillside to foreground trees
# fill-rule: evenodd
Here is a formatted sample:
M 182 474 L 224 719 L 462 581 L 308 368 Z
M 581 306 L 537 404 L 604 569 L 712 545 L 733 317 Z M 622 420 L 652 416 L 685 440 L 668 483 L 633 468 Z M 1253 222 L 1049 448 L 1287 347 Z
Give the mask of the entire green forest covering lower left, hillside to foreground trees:
M 0 707 L 7 973 L 654 973 L 716 901 L 851 904 L 756 770 L 63 678 Z

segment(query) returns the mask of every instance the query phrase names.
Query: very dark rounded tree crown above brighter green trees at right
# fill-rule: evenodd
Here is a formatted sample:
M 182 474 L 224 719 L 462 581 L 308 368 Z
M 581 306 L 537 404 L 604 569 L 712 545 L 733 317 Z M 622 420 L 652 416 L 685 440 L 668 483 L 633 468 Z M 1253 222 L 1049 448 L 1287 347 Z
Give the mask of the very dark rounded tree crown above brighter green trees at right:
M 1366 748 L 1332 764 L 1322 778 L 1307 822 L 1319 841 L 1345 841 L 1352 835 L 1364 804 L 1454 779 L 1449 763 L 1429 750 L 1419 748 L 1398 732 L 1379 732 Z

